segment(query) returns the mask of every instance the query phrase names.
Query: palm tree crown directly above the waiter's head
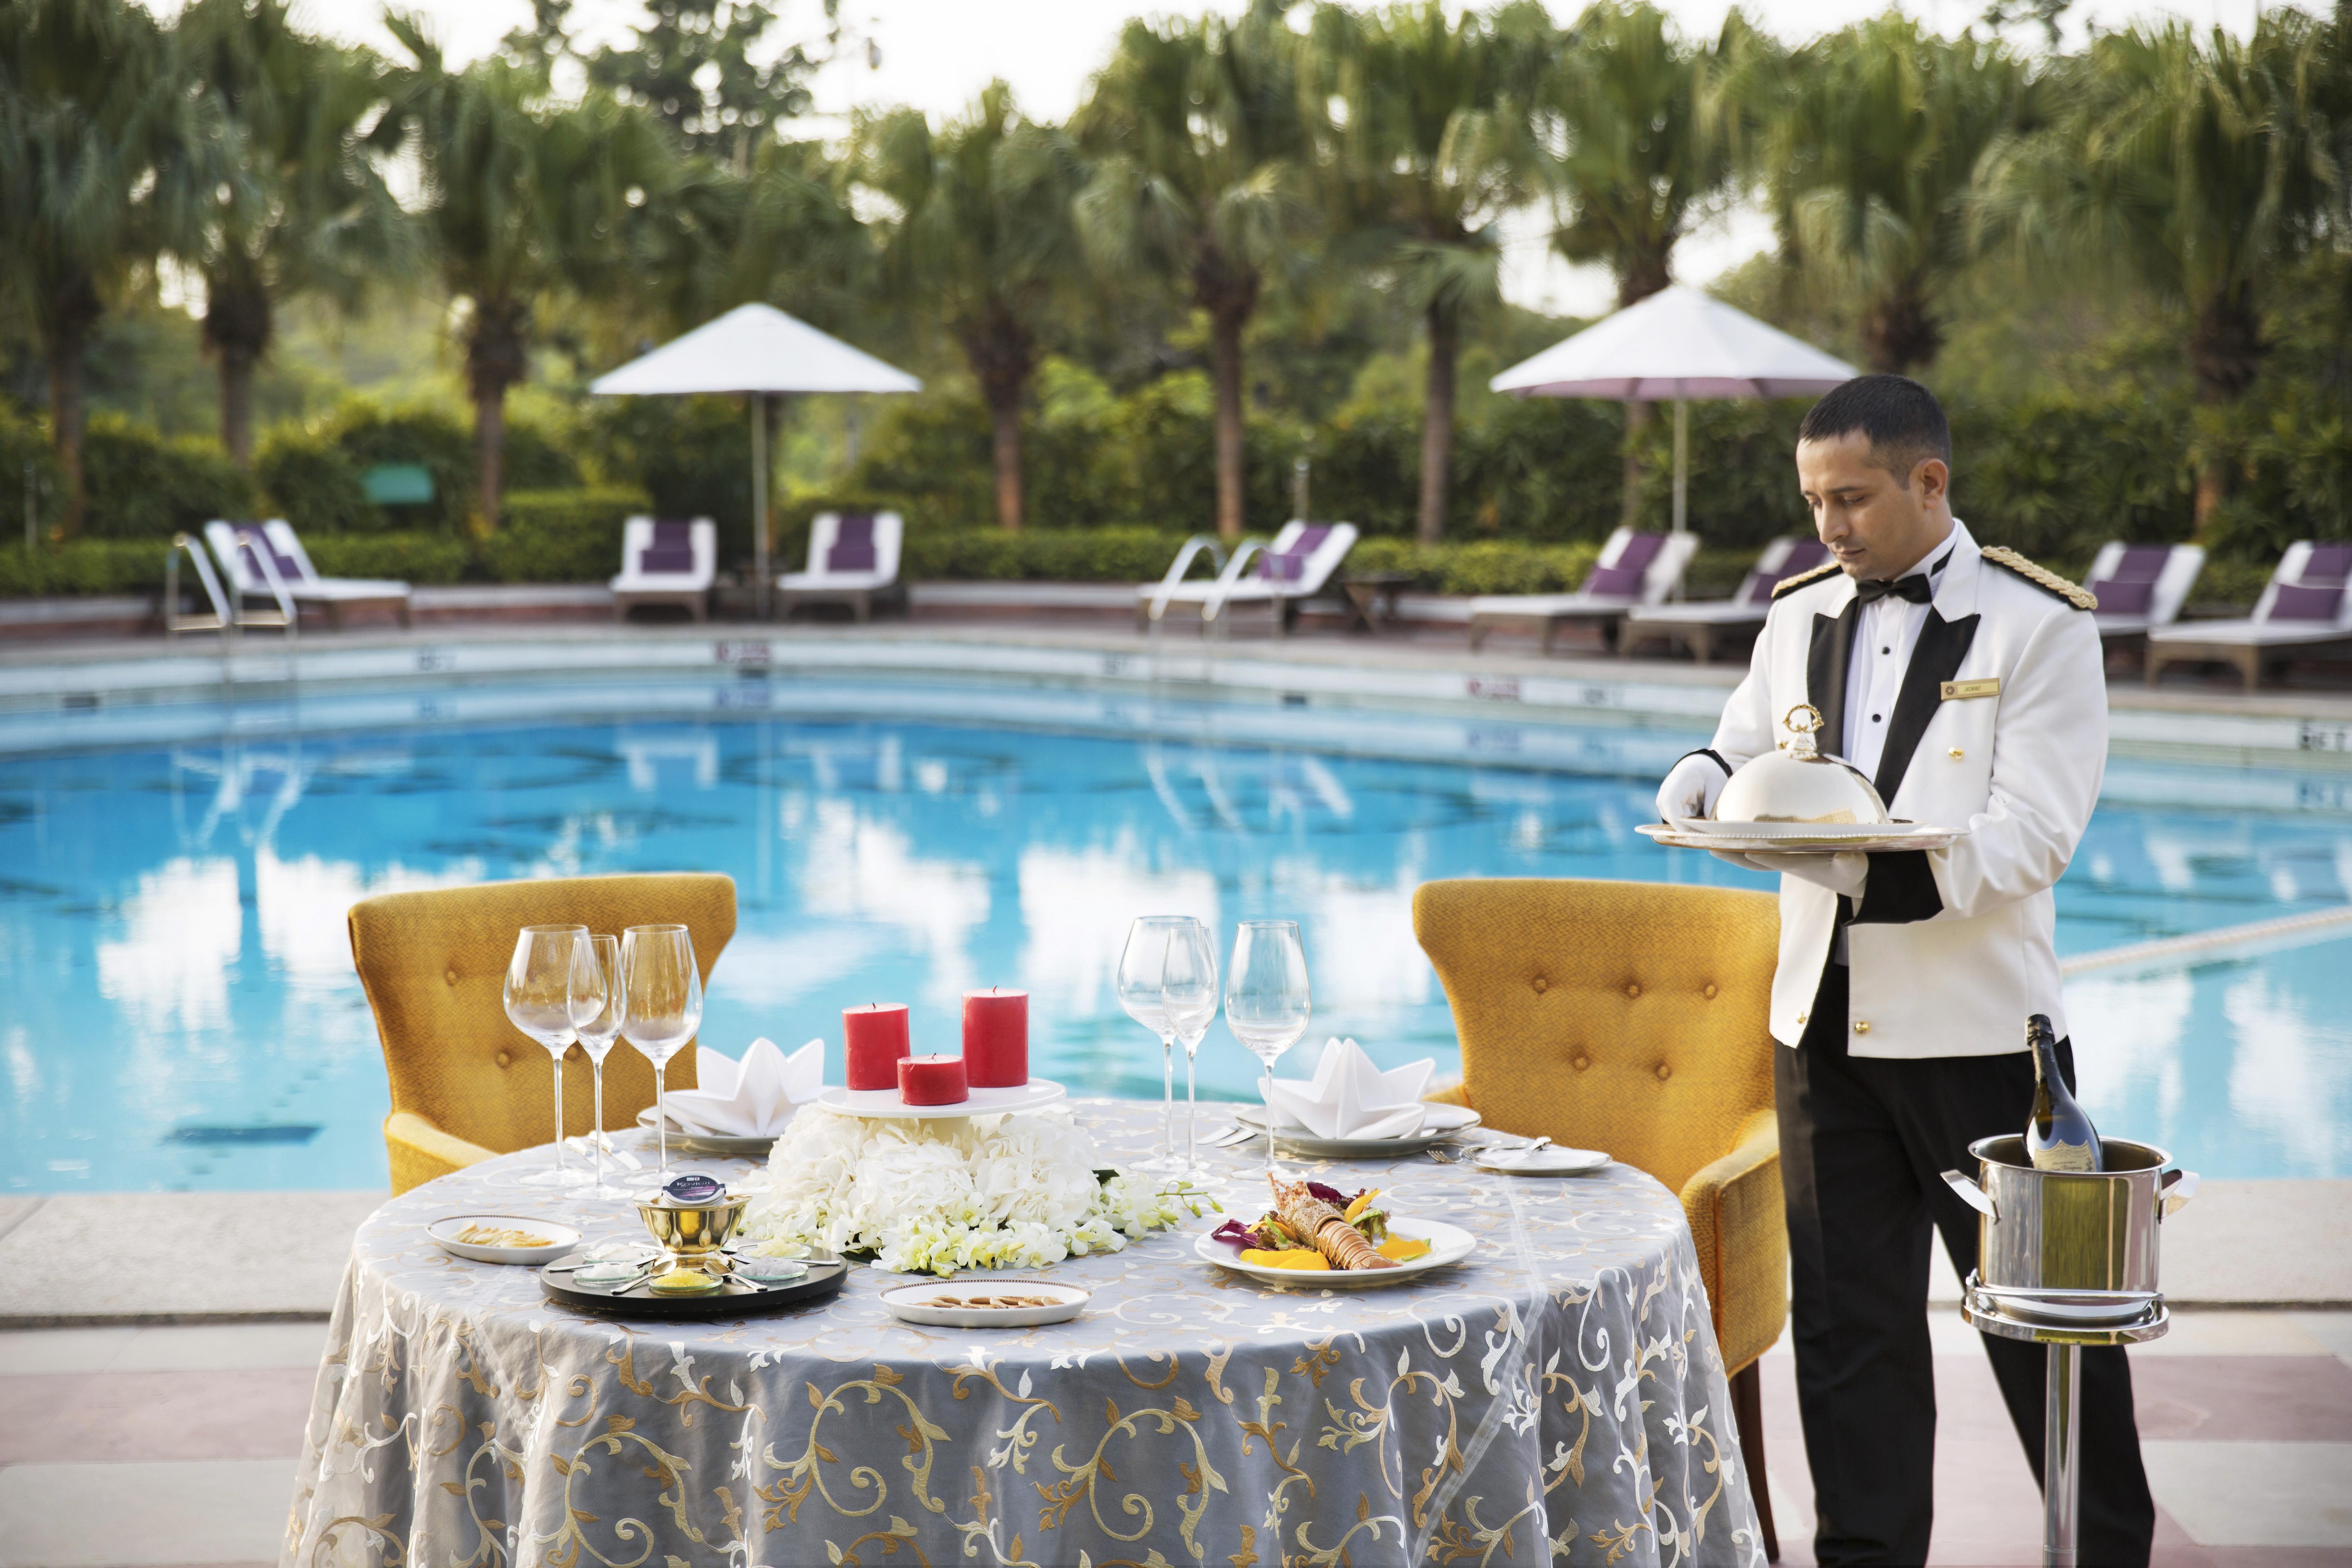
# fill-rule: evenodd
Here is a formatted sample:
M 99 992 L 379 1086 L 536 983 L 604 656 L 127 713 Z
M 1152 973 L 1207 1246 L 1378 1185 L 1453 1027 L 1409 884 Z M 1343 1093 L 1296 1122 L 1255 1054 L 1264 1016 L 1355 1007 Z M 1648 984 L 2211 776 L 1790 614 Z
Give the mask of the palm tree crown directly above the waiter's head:
M 1783 249 L 1863 294 L 1870 369 L 1926 364 L 1976 162 L 2030 113 L 2025 66 L 1997 40 L 1889 12 L 1799 49 L 1769 96 L 1762 167 Z

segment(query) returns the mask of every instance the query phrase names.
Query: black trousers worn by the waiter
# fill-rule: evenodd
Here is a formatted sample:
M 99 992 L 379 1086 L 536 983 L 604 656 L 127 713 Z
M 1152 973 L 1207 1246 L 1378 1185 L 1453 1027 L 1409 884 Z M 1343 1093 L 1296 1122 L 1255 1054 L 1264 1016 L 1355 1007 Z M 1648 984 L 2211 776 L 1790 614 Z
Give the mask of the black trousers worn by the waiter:
M 1936 1521 L 1936 1373 L 1926 1333 L 1931 1222 L 1952 1269 L 1976 1267 L 1976 1211 L 1940 1173 L 1969 1143 L 2025 1126 L 2032 1056 L 1926 1060 L 1846 1053 L 1846 966 L 1828 964 L 1802 1044 L 1773 1051 L 1788 1199 L 1792 1340 L 1813 1552 L 1842 1563 L 1924 1563 Z M 2023 1018 L 2018 1020 L 2025 1023 Z M 2072 1044 L 2058 1046 L 2067 1084 Z M 2025 1458 L 2042 1476 L 2044 1349 L 1983 1335 Z M 2140 1568 L 2157 1505 L 2140 1469 L 2131 1366 L 2082 1352 L 2082 1563 Z

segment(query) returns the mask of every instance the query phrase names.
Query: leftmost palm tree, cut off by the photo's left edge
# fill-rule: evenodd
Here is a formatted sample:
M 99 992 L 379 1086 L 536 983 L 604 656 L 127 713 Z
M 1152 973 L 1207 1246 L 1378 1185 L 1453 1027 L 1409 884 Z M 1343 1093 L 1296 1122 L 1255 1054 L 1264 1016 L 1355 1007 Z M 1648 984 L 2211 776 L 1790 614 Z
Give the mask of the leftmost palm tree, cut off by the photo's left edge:
M 0 7 L 0 292 L 49 362 L 49 440 L 82 527 L 82 360 L 136 268 L 195 228 L 216 139 L 129 0 Z

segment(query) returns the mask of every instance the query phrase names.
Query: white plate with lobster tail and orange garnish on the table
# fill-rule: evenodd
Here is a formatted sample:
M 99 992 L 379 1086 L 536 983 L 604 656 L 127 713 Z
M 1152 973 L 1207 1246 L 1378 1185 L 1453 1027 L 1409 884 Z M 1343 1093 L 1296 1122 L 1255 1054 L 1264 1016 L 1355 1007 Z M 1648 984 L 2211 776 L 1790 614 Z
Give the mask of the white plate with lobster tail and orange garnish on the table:
M 1402 1220 L 1367 1187 L 1343 1194 L 1324 1182 L 1272 1180 L 1275 1206 L 1254 1225 L 1225 1220 L 1195 1251 L 1268 1284 L 1357 1288 L 1461 1262 L 1470 1232 L 1437 1220 Z

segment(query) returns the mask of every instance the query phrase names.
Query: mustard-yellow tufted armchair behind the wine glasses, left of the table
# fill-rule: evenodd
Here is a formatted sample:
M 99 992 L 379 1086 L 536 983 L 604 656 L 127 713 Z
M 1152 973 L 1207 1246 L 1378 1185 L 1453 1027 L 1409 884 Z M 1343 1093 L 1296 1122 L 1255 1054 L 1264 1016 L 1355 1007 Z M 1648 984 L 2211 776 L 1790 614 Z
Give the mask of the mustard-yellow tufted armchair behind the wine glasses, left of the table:
M 489 882 L 430 893 L 383 893 L 350 905 L 350 961 L 376 1011 L 393 1114 L 383 1143 L 393 1192 L 407 1192 L 492 1154 L 546 1143 L 548 1053 L 506 1020 L 506 961 L 522 926 L 682 924 L 710 980 L 734 936 L 734 879 L 710 872 Z M 572 1048 L 579 1053 L 579 1046 Z M 670 1088 L 694 1088 L 694 1053 L 668 1067 Z M 635 1051 L 604 1060 L 604 1126 L 637 1124 L 654 1103 L 654 1070 Z M 564 1126 L 588 1128 L 593 1084 L 564 1074 Z

